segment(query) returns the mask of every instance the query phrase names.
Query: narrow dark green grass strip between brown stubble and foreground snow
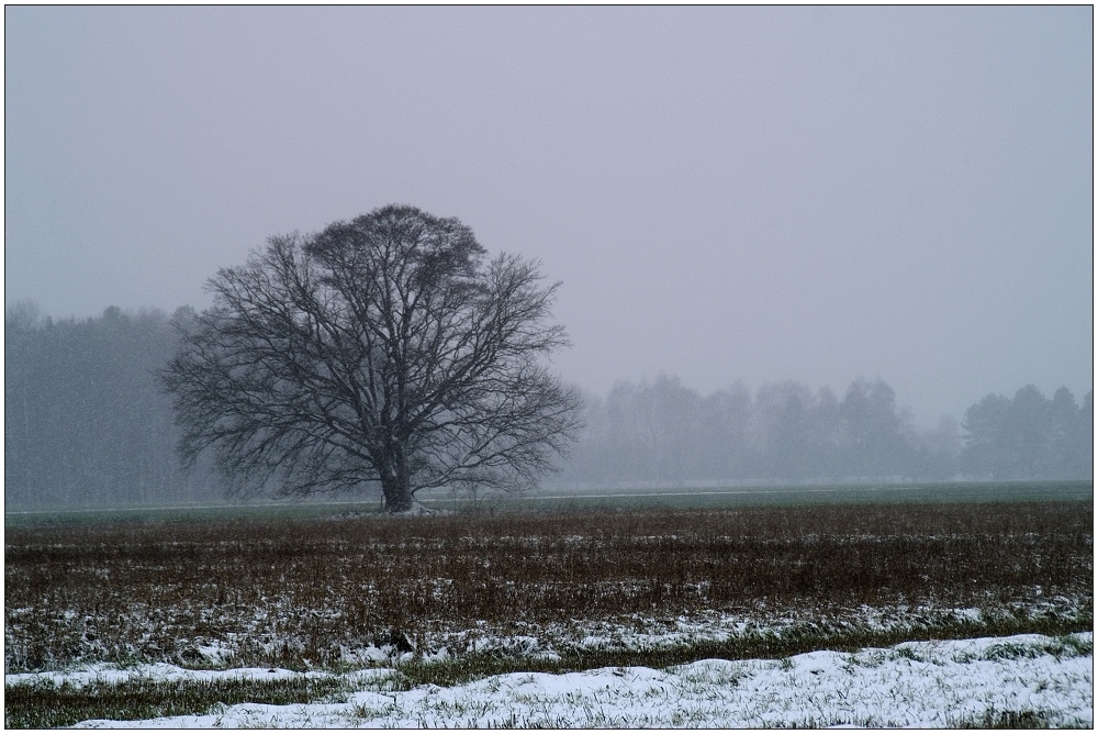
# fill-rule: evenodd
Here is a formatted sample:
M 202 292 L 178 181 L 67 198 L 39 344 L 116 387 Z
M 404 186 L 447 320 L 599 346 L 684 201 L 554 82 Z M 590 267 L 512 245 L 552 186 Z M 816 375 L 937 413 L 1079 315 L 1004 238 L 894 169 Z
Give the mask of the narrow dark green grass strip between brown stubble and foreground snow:
M 696 660 L 719 658 L 781 659 L 816 650 L 853 653 L 866 647 L 890 647 L 903 642 L 964 640 L 1016 634 L 1042 634 L 1062 637 L 1094 627 L 1090 616 L 1074 621 L 1044 618 L 1022 620 L 1005 616 L 989 623 L 956 623 L 935 627 L 901 630 L 853 630 L 822 634 L 794 631 L 782 635 L 747 635 L 721 642 L 695 642 L 687 645 L 646 650 L 583 650 L 558 659 L 508 657 L 502 655 L 463 655 L 438 661 L 400 664 L 383 679 L 385 690 L 411 690 L 417 686 L 457 686 L 490 676 L 512 672 L 564 674 L 593 668 L 643 666 L 668 668 Z M 1093 655 L 1093 646 L 1078 647 L 1074 641 L 1057 642 L 1064 654 Z M 121 683 L 94 682 L 70 686 L 53 682 L 5 687 L 4 725 L 8 729 L 51 729 L 71 726 L 90 719 L 132 721 L 160 716 L 201 715 L 215 707 L 235 703 L 343 702 L 361 688 L 377 689 L 378 681 L 356 686 L 337 674 L 330 677 L 294 677 L 281 680 L 173 680 L 136 678 Z M 982 722 L 973 722 L 979 726 Z M 1006 725 L 1011 722 L 990 722 Z M 1019 722 L 1013 722 L 1019 723 Z M 1008 726 L 1010 727 L 1010 726 Z M 1015 726 L 1017 727 L 1017 726 Z

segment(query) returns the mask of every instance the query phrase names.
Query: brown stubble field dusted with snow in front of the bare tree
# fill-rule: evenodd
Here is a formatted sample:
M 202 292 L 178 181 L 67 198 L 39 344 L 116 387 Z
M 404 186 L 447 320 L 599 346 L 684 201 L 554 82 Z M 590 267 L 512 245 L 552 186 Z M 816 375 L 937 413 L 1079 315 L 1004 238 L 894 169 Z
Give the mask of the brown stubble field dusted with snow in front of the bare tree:
M 862 605 L 1093 616 L 1087 502 L 9 527 L 5 669 L 332 665 L 438 631 Z M 1034 630 L 1038 631 L 1038 630 Z

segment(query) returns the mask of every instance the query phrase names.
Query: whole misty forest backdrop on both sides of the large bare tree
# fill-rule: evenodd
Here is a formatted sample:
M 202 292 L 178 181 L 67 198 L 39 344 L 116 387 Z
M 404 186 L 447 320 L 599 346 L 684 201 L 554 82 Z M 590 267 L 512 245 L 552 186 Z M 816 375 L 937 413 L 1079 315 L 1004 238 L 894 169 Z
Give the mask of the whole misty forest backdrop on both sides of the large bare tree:
M 179 309 L 175 318 L 193 313 Z M 179 467 L 155 372 L 176 351 L 159 311 L 54 321 L 33 304 L 4 330 L 4 499 L 13 507 L 217 501 L 213 468 Z M 989 394 L 957 425 L 912 426 L 881 380 L 840 398 L 793 381 L 702 396 L 661 376 L 587 396 L 560 486 L 683 486 L 1093 477 L 1094 391 Z M 376 488 L 363 488 L 373 496 Z

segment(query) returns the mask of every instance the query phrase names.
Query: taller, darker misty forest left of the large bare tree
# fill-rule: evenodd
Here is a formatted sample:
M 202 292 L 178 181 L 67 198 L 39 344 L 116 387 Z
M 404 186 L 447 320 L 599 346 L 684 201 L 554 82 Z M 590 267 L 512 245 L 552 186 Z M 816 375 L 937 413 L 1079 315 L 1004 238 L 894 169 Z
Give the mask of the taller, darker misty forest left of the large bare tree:
M 189 309 L 180 309 L 183 318 Z M 165 504 L 223 497 L 208 463 L 179 468 L 171 401 L 155 371 L 175 354 L 167 314 L 112 307 L 96 319 L 4 319 L 4 500 L 9 507 Z

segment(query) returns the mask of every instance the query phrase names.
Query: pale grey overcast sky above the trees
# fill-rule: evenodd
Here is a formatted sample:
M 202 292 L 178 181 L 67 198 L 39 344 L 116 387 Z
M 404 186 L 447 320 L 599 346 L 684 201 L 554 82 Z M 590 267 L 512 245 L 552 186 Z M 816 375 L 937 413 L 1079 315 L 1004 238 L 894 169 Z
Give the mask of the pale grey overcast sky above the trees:
M 1090 389 L 1089 7 L 4 14 L 8 304 L 202 308 L 406 202 L 563 280 L 598 392 Z

